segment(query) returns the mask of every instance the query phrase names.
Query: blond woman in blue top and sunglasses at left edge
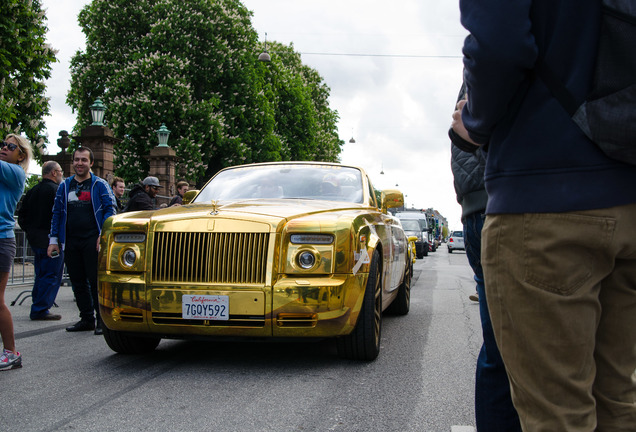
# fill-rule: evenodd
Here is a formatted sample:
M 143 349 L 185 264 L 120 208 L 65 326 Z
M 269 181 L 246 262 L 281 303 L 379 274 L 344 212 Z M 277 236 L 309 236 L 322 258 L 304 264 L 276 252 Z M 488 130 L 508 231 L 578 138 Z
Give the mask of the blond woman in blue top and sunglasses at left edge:
M 0 144 L 0 336 L 4 343 L 0 371 L 22 367 L 22 356 L 15 349 L 13 318 L 4 301 L 4 292 L 15 256 L 13 215 L 24 191 L 30 161 L 29 142 L 15 134 L 7 135 Z

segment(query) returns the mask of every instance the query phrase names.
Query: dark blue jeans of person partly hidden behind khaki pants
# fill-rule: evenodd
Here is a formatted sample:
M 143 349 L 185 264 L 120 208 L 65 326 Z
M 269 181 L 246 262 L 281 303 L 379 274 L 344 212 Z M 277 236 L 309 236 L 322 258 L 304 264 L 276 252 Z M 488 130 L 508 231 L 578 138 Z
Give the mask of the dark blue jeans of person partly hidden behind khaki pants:
M 475 421 L 479 432 L 521 431 L 519 416 L 512 405 L 510 383 L 506 369 L 497 349 L 488 304 L 484 273 L 481 267 L 481 229 L 484 216 L 480 212 L 466 216 L 464 243 L 468 262 L 475 273 L 479 295 L 479 315 L 484 343 L 477 357 L 475 374 Z

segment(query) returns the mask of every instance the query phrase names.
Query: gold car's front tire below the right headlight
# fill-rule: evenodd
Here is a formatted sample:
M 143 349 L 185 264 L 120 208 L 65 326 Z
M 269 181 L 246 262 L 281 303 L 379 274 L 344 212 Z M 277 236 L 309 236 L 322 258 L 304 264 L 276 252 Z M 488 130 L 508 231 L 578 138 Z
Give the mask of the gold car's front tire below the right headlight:
M 362 309 L 353 331 L 337 340 L 338 355 L 352 360 L 375 360 L 380 353 L 382 334 L 382 278 L 380 253 L 373 252 Z

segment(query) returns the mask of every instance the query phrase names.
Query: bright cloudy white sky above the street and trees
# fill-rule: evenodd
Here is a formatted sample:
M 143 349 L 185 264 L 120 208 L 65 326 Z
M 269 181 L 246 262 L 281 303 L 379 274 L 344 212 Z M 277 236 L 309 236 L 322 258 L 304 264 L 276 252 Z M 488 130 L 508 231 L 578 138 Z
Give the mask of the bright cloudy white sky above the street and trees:
M 49 43 L 60 62 L 48 82 L 49 153 L 71 130 L 69 60 L 84 49 L 77 14 L 88 0 L 43 0 Z M 341 161 L 363 167 L 375 186 L 396 188 L 408 207 L 433 207 L 461 229 L 447 131 L 461 84 L 458 1 L 243 0 L 261 40 L 293 43 L 331 88 L 346 144 Z M 273 54 L 275 55 L 275 54 Z M 350 143 L 351 138 L 355 143 Z M 384 174 L 380 174 L 384 172 Z

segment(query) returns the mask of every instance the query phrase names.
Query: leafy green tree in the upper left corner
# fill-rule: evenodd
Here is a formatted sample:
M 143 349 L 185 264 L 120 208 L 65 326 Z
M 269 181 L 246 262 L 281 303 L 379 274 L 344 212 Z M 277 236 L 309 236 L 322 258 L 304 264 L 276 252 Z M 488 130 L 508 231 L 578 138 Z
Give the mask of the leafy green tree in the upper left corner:
M 0 14 L 0 134 L 23 133 L 36 159 L 44 143 L 49 113 L 44 81 L 51 76 L 54 50 L 45 42 L 47 26 L 38 0 L 2 0 Z

